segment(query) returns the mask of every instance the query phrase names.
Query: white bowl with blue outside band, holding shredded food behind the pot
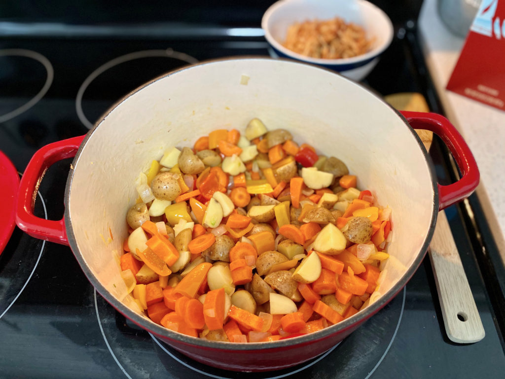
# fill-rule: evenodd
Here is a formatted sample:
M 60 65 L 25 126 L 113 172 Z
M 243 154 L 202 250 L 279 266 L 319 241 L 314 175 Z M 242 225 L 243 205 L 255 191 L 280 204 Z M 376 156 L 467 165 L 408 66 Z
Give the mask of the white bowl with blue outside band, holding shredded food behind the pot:
M 294 53 L 282 45 L 291 24 L 333 17 L 362 26 L 367 38 L 374 38 L 372 49 L 353 58 L 318 59 Z M 365 0 L 280 0 L 265 12 L 261 25 L 272 57 L 316 64 L 353 80 L 362 80 L 373 70 L 393 39 L 393 25 L 389 17 Z

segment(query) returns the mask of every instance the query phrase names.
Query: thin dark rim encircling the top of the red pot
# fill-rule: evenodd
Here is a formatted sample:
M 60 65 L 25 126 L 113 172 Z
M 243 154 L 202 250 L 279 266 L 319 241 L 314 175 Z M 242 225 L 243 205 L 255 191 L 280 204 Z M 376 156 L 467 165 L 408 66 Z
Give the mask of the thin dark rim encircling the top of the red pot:
M 311 66 L 313 68 L 319 69 L 319 70 L 325 70 L 328 72 L 331 72 L 334 75 L 340 76 L 343 80 L 348 80 L 356 85 L 359 85 L 362 87 L 364 90 L 367 92 L 371 92 L 373 96 L 375 96 L 379 101 L 387 105 L 394 113 L 396 113 L 400 119 L 405 123 L 406 127 L 409 128 L 411 131 L 412 135 L 416 139 L 417 143 L 423 147 L 421 151 L 424 154 L 426 163 L 428 165 L 429 171 L 430 171 L 430 176 L 431 176 L 431 184 L 432 184 L 432 189 L 433 189 L 433 209 L 432 209 L 432 215 L 431 215 L 431 222 L 430 222 L 430 227 L 428 229 L 428 233 L 426 235 L 426 238 L 420 248 L 420 253 L 418 256 L 415 258 L 413 263 L 410 265 L 410 267 L 406 270 L 406 272 L 399 278 L 399 280 L 395 283 L 395 285 L 385 294 L 381 296 L 379 300 L 374 302 L 373 304 L 369 305 L 366 307 L 363 311 L 358 312 L 357 314 L 337 323 L 331 326 L 328 326 L 322 330 L 316 331 L 314 333 L 310 333 L 307 335 L 303 336 L 298 336 L 294 338 L 288 338 L 285 340 L 279 340 L 279 341 L 271 341 L 271 342 L 249 342 L 249 343 L 232 343 L 232 342 L 220 342 L 220 341 L 208 341 L 204 340 L 201 338 L 196 338 L 196 337 L 190 337 L 186 336 L 180 333 L 177 333 L 175 331 L 172 331 L 170 329 L 167 329 L 163 327 L 162 325 L 159 325 L 149 319 L 147 319 L 145 316 L 141 316 L 140 314 L 133 312 L 130 308 L 126 307 L 121 301 L 116 299 L 114 296 L 111 296 L 109 291 L 102 285 L 102 283 L 94 276 L 94 274 L 91 272 L 89 267 L 87 266 L 83 256 L 79 253 L 79 249 L 77 246 L 77 240 L 75 237 L 74 230 L 72 228 L 72 220 L 71 220 L 71 215 L 69 213 L 69 206 L 68 206 L 68 201 L 70 198 L 70 191 L 72 187 L 72 179 L 73 179 L 73 172 L 75 170 L 75 163 L 78 161 L 80 154 L 84 148 L 84 146 L 87 143 L 87 140 L 90 138 L 91 134 L 99 127 L 99 125 L 105 120 L 107 115 L 109 115 L 114 109 L 117 108 L 117 106 L 121 103 L 123 103 L 127 98 L 131 97 L 133 94 L 136 92 L 140 91 L 141 89 L 147 87 L 150 84 L 153 84 L 157 82 L 158 80 L 164 79 L 165 77 L 169 77 L 171 75 L 174 75 L 176 73 L 191 69 L 195 66 L 202 66 L 202 65 L 209 65 L 209 64 L 216 64 L 222 61 L 233 61 L 233 60 L 249 60 L 249 61 L 254 61 L 254 60 L 271 60 L 271 61 L 283 61 L 285 63 L 293 64 L 293 65 L 302 65 L 302 66 Z M 193 345 L 193 346 L 198 346 L 198 347 L 204 347 L 204 348 L 212 348 L 212 349 L 220 349 L 220 350 L 242 350 L 242 351 L 248 351 L 248 350 L 269 350 L 269 349 L 278 349 L 278 348 L 283 348 L 287 346 L 292 346 L 292 345 L 299 345 L 299 344 L 308 344 L 312 343 L 317 340 L 322 340 L 325 339 L 331 335 L 336 335 L 339 334 L 340 332 L 347 330 L 355 324 L 360 324 L 367 320 L 369 317 L 371 317 L 373 314 L 378 312 L 382 307 L 384 307 L 389 301 L 392 300 L 394 296 L 398 292 L 403 289 L 403 287 L 406 286 L 407 282 L 409 279 L 412 277 L 412 275 L 417 271 L 419 265 L 424 259 L 424 256 L 426 255 L 426 252 L 428 250 L 429 243 L 431 241 L 434 228 L 435 228 L 435 223 L 437 219 L 437 214 L 438 214 L 438 205 L 439 205 L 439 194 L 438 194 L 438 187 L 437 187 L 437 180 L 436 180 L 436 175 L 435 175 L 435 169 L 433 167 L 433 164 L 430 163 L 428 153 L 424 149 L 424 145 L 421 141 L 421 138 L 418 136 L 416 131 L 410 126 L 408 123 L 407 119 L 403 117 L 403 115 L 398 112 L 396 109 L 394 109 L 391 105 L 386 103 L 384 99 L 374 90 L 370 90 L 370 88 L 365 87 L 364 85 L 351 80 L 349 78 L 346 78 L 330 69 L 327 68 L 322 68 L 320 66 L 316 66 L 313 64 L 308 64 L 308 63 L 301 63 L 301 62 L 296 62 L 293 60 L 289 59 L 282 59 L 282 58 L 270 58 L 270 57 L 255 57 L 255 56 L 243 56 L 243 57 L 228 57 L 228 58 L 219 58 L 219 59 L 213 59 L 213 60 L 206 60 L 202 61 L 193 65 L 188 65 L 184 66 L 182 68 L 170 71 L 168 73 L 162 74 L 146 83 L 143 85 L 137 87 L 136 89 L 132 90 L 130 93 L 126 94 L 122 99 L 118 100 L 114 105 L 112 105 L 94 124 L 93 128 L 88 131 L 86 136 L 84 137 L 82 144 L 80 145 L 75 157 L 74 157 L 74 169 L 70 170 L 69 176 L 67 179 L 67 184 L 65 187 L 65 197 L 64 197 L 64 204 L 65 204 L 65 227 L 67 230 L 67 237 L 68 237 L 68 243 L 70 248 L 72 249 L 72 252 L 74 256 L 76 257 L 81 269 L 83 270 L 84 274 L 86 275 L 87 279 L 91 282 L 92 286 L 95 288 L 95 290 L 102 295 L 109 304 L 111 304 L 116 310 L 118 310 L 120 313 L 125 315 L 128 319 L 133 321 L 135 324 L 145 328 L 147 331 L 150 331 L 157 335 L 158 337 L 165 338 L 165 339 L 170 339 L 170 340 L 175 340 L 176 342 L 188 344 L 188 345 Z

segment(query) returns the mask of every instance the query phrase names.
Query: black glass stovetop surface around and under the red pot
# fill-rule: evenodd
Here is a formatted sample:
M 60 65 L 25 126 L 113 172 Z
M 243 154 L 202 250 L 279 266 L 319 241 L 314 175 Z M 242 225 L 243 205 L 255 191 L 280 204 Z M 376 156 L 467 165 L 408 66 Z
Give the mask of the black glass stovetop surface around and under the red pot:
M 151 78 L 207 59 L 268 55 L 259 23 L 271 2 L 222 2 L 219 11 L 213 8 L 219 2 L 211 3 L 196 3 L 185 13 L 179 6 L 184 25 L 155 25 L 151 34 L 140 33 L 149 24 L 131 13 L 107 23 L 119 18 L 105 5 L 95 5 L 85 28 L 78 27 L 84 16 L 75 9 L 65 16 L 41 6 L 31 15 L 21 5 L 5 8 L 21 26 L 44 17 L 47 25 L 8 28 L 0 20 L 0 150 L 22 173 L 37 149 L 86 133 L 119 98 Z M 403 10 L 393 2 L 375 3 L 392 18 L 395 37 L 364 85 L 383 95 L 421 92 L 433 111 L 443 113 L 417 40 L 421 2 L 405 2 Z M 68 29 L 57 27 L 62 17 L 71 18 Z M 435 143 L 431 156 L 440 181 L 453 180 L 457 172 L 446 149 Z M 35 203 L 38 216 L 62 217 L 69 166 L 62 161 L 47 171 Z M 0 378 L 503 377 L 504 275 L 485 215 L 475 195 L 446 215 L 485 328 L 482 341 L 459 345 L 447 339 L 426 257 L 405 289 L 340 344 L 300 366 L 261 374 L 218 370 L 179 354 L 106 303 L 68 247 L 16 228 L 0 255 Z

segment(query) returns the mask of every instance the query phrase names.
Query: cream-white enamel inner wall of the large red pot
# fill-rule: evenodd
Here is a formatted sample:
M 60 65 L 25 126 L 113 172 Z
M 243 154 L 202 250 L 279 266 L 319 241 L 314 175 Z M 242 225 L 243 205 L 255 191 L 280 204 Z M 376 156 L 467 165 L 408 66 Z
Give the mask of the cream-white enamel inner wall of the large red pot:
M 358 175 L 360 189 L 392 208 L 391 257 L 374 299 L 424 254 L 434 207 L 430 170 L 412 131 L 391 108 L 358 84 L 312 66 L 270 59 L 212 62 L 131 94 L 92 131 L 74 162 L 67 200 L 72 248 L 116 299 L 136 309 L 125 296 L 117 258 L 139 172 L 172 146 L 192 146 L 216 128 L 243 130 L 254 117 L 342 159 Z

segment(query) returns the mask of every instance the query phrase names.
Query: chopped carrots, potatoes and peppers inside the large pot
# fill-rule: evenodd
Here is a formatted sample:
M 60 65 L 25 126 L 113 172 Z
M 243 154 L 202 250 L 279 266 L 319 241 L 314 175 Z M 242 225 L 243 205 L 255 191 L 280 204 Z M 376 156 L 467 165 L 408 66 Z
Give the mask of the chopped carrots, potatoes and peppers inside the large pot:
M 154 322 L 213 341 L 312 333 L 366 307 L 390 209 L 336 157 L 252 119 L 173 147 L 137 182 L 122 277 Z

